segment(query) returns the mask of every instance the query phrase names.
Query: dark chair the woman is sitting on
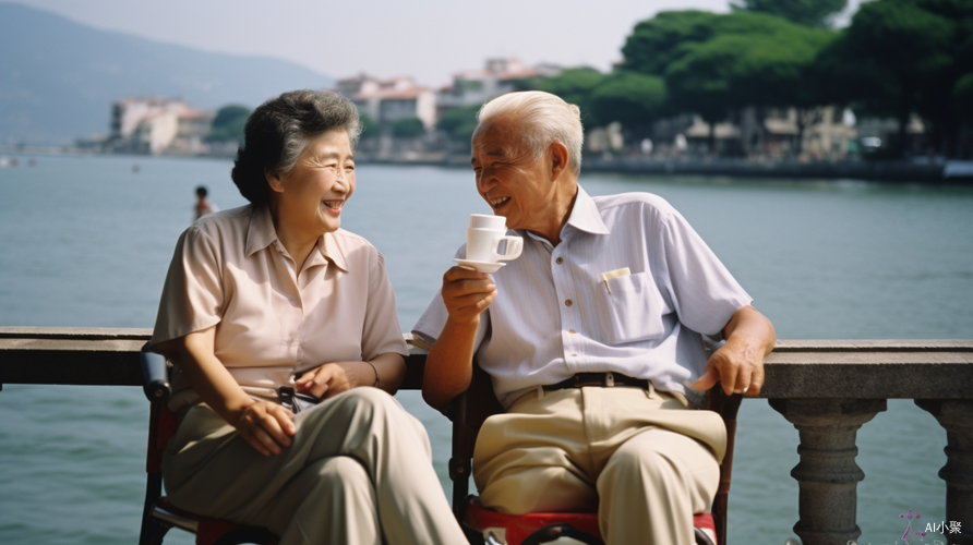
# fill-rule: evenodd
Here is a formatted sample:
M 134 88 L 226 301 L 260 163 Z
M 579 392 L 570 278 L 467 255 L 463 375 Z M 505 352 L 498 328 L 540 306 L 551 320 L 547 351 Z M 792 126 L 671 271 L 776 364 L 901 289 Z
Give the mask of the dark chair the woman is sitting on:
M 172 505 L 163 493 L 163 452 L 176 433 L 176 415 L 166 403 L 172 390 L 166 359 L 142 348 L 142 376 L 145 397 L 152 403 L 148 417 L 148 449 L 145 461 L 145 506 L 139 545 L 159 545 L 171 528 L 196 534 L 197 545 L 237 545 L 255 543 L 276 545 L 277 536 L 265 529 L 211 519 Z

